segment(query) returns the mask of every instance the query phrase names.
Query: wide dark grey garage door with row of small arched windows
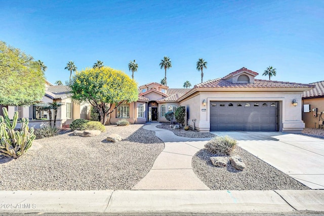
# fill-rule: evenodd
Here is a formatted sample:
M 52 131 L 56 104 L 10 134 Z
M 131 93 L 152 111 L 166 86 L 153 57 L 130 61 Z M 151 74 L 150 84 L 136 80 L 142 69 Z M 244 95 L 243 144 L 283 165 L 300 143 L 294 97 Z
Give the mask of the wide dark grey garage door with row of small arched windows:
M 210 103 L 210 131 L 277 131 L 278 102 Z

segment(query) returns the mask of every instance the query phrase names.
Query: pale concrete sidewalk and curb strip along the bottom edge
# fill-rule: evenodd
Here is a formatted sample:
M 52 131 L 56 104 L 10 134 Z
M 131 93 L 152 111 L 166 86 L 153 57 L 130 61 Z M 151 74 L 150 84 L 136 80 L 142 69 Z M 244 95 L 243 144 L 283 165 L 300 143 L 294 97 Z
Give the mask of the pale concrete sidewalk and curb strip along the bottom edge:
M 323 211 L 324 190 L 0 191 L 0 213 Z

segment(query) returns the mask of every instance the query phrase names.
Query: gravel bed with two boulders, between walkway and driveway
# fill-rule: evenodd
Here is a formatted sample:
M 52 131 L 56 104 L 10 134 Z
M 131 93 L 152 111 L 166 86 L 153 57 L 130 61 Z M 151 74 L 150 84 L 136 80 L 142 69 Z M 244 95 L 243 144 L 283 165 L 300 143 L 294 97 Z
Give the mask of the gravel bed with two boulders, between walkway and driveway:
M 212 190 L 309 190 L 268 163 L 255 157 L 238 146 L 239 154 L 246 168 L 239 171 L 230 163 L 226 167 L 216 167 L 210 157 L 217 156 L 205 149 L 198 151 L 192 158 L 191 165 L 197 177 Z

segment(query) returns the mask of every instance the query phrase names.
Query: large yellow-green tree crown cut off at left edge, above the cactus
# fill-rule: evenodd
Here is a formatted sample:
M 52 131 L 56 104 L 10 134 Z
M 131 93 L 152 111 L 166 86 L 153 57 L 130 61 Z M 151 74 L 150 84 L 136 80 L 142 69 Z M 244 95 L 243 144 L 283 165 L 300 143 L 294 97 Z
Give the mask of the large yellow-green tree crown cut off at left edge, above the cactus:
M 0 41 L 0 104 L 31 105 L 45 95 L 45 76 L 33 57 Z

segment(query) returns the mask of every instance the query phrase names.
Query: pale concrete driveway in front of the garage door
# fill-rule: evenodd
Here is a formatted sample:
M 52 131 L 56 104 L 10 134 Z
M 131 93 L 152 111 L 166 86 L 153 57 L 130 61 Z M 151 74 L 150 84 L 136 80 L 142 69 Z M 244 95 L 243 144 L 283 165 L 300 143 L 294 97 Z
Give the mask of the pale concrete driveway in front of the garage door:
M 324 189 L 324 140 L 281 132 L 212 132 L 228 135 L 238 146 L 311 189 Z

